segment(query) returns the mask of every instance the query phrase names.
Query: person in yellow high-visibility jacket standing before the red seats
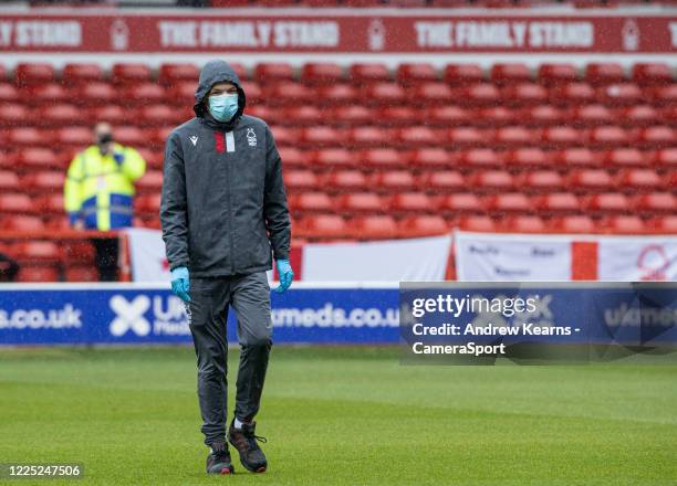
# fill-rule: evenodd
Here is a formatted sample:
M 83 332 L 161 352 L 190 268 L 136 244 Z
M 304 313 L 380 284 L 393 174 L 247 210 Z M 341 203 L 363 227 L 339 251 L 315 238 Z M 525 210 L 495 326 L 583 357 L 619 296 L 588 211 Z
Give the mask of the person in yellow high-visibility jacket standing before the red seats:
M 146 161 L 132 147 L 116 144 L 107 123 L 94 127 L 94 145 L 71 161 L 64 186 L 64 205 L 77 230 L 118 230 L 132 226 L 134 182 Z M 101 281 L 117 279 L 116 239 L 94 239 Z

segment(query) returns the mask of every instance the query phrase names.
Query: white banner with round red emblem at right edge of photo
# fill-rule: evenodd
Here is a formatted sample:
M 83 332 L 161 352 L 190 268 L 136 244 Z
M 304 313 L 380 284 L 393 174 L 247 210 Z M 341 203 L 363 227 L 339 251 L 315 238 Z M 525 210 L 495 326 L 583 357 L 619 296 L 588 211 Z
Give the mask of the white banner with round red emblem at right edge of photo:
M 677 281 L 677 237 L 601 236 L 600 281 Z

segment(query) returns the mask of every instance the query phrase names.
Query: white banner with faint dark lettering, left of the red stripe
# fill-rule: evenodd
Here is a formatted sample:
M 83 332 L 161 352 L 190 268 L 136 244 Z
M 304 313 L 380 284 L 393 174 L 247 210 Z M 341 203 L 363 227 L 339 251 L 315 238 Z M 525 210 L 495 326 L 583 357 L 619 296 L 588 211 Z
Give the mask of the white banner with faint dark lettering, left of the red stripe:
M 567 235 L 456 232 L 459 281 L 570 281 L 572 237 Z

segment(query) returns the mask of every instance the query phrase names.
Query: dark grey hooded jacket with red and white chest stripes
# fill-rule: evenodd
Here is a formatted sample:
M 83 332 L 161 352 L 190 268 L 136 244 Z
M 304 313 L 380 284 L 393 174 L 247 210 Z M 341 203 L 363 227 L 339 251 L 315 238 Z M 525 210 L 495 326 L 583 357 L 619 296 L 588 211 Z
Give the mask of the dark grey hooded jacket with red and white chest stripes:
M 239 109 L 219 123 L 202 101 L 225 81 L 238 87 Z M 289 258 L 291 239 L 272 133 L 242 114 L 244 91 L 222 61 L 205 65 L 195 98 L 196 118 L 175 128 L 165 147 L 160 222 L 169 267 L 187 266 L 196 277 L 270 270 L 273 255 Z

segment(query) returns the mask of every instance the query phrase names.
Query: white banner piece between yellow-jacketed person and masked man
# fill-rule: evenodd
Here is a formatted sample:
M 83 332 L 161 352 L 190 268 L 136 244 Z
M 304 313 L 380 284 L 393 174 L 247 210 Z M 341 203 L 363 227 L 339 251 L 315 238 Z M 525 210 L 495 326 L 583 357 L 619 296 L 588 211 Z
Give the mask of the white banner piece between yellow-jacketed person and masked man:
M 129 228 L 125 233 L 129 242 L 134 282 L 169 282 L 171 277 L 162 232 Z

